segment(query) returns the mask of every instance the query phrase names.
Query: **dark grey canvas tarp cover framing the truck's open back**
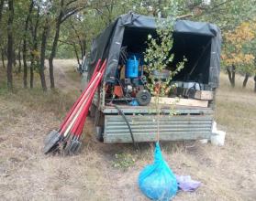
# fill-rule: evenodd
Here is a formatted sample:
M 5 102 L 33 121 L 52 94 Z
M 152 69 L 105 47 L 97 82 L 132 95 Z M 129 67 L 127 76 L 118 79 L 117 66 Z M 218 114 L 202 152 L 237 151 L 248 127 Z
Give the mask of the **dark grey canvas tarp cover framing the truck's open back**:
M 133 13 L 118 16 L 116 21 L 95 38 L 91 48 L 91 59 L 89 64 L 89 78 L 94 71 L 95 64 L 99 58 L 107 58 L 105 73 L 106 82 L 114 82 L 117 75 L 120 48 L 122 46 L 126 27 L 156 29 L 156 20 L 151 16 L 141 16 Z M 192 22 L 188 20 L 177 20 L 173 27 L 174 33 L 201 35 L 211 38 L 210 58 L 208 71 L 208 84 L 217 88 L 220 71 L 220 48 L 221 35 L 217 26 L 209 23 Z

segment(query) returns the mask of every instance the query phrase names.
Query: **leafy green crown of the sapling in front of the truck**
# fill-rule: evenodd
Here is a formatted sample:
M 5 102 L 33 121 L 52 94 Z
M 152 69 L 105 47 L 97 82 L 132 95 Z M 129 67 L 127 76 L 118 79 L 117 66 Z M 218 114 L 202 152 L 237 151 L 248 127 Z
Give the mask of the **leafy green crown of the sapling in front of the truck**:
M 184 68 L 184 61 L 179 62 L 175 69 L 170 70 L 168 78 L 163 82 L 161 79 L 155 79 L 155 71 L 162 72 L 164 69 L 168 69 L 168 65 L 173 61 L 173 54 L 170 54 L 173 48 L 173 25 L 174 20 L 177 17 L 177 6 L 174 1 L 171 1 L 173 5 L 172 16 L 169 16 L 166 20 L 158 22 L 157 36 L 149 36 L 148 48 L 145 52 L 145 62 L 149 63 L 147 68 L 148 72 L 148 88 L 153 95 L 164 96 L 171 90 L 170 82 L 173 77 Z M 161 87 L 156 90 L 155 87 L 160 85 Z M 160 91 L 159 91 L 160 90 Z

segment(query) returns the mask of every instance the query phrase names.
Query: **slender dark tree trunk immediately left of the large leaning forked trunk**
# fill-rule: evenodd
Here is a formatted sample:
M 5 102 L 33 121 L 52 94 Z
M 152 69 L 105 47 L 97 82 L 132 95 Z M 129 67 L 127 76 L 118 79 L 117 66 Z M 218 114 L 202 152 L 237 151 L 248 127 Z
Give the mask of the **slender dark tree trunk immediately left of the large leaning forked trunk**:
M 47 45 L 47 37 L 49 32 L 49 16 L 45 20 L 45 25 L 43 27 L 43 33 L 41 38 L 41 52 L 40 52 L 40 66 L 39 66 L 39 76 L 41 79 L 41 86 L 44 91 L 47 90 L 45 75 L 44 75 L 44 61 L 45 61 L 45 51 Z

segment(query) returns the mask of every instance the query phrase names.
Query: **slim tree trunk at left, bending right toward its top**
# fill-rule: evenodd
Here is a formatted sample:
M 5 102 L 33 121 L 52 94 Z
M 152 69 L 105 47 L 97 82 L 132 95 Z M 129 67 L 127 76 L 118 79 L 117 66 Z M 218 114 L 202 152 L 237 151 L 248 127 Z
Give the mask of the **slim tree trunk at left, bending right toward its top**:
M 27 64 L 27 32 L 28 32 L 28 23 L 29 19 L 32 13 L 34 7 L 34 1 L 31 0 L 29 8 L 28 8 L 28 16 L 25 21 L 25 28 L 24 28 L 24 36 L 23 36 L 23 49 L 22 49 L 22 55 L 23 55 L 23 85 L 24 88 L 28 88 L 28 64 Z

